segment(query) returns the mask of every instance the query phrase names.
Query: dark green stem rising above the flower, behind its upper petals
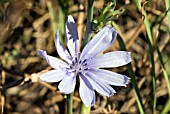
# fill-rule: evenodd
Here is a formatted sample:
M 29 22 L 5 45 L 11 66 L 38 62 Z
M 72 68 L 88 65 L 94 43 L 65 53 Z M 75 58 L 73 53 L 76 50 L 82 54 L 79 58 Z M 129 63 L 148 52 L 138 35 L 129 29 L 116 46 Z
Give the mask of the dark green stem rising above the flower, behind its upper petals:
M 86 33 L 83 40 L 83 47 L 90 41 L 92 31 L 92 19 L 93 19 L 93 2 L 94 0 L 88 0 L 88 11 L 87 11 L 87 23 Z

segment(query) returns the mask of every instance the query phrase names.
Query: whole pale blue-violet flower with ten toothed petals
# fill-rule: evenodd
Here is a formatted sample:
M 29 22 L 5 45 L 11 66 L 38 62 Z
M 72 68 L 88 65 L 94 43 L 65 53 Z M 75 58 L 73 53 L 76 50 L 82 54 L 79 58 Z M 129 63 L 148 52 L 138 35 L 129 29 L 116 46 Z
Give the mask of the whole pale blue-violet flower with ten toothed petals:
M 72 16 L 68 16 L 65 25 L 68 50 L 60 43 L 56 33 L 54 42 L 59 56 L 64 60 L 47 55 L 46 51 L 39 50 L 38 54 L 54 68 L 40 76 L 45 82 L 59 82 L 61 93 L 69 94 L 74 91 L 76 78 L 79 78 L 80 98 L 86 106 L 95 104 L 95 92 L 104 96 L 112 96 L 116 91 L 111 87 L 126 86 L 129 78 L 101 68 L 112 68 L 126 65 L 131 61 L 130 52 L 115 51 L 102 55 L 105 49 L 112 45 L 117 32 L 114 28 L 105 26 L 78 52 L 78 33 Z

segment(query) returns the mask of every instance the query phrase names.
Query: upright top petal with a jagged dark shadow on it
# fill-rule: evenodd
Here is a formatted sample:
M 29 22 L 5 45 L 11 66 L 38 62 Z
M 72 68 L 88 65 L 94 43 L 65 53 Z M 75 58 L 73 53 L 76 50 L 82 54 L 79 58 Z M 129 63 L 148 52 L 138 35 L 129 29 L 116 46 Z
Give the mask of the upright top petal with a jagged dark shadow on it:
M 71 15 L 68 16 L 65 25 L 67 46 L 72 57 L 78 56 L 78 33 L 74 19 Z

